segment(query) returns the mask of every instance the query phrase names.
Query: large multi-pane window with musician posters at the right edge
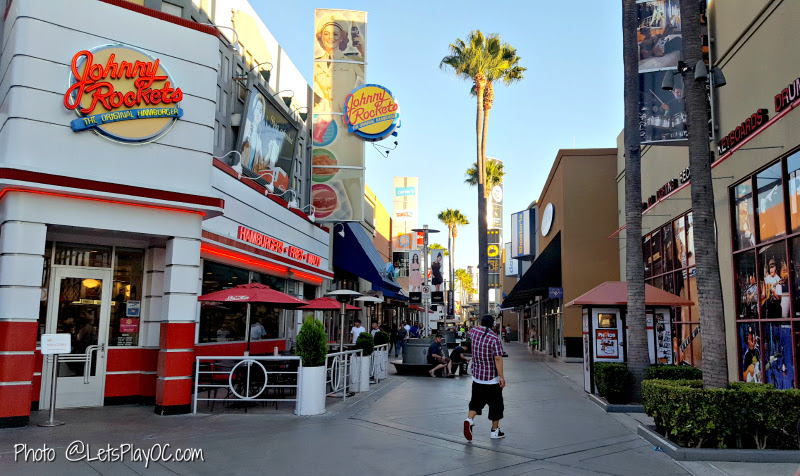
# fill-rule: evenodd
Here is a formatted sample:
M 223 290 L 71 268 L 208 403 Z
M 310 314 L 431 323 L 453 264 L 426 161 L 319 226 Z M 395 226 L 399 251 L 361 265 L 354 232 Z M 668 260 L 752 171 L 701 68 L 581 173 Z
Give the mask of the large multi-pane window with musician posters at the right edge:
M 796 355 L 800 348 L 800 154 L 776 161 L 747 177 L 732 186 L 730 194 L 739 379 L 796 388 Z M 757 246 L 765 241 L 769 243 Z

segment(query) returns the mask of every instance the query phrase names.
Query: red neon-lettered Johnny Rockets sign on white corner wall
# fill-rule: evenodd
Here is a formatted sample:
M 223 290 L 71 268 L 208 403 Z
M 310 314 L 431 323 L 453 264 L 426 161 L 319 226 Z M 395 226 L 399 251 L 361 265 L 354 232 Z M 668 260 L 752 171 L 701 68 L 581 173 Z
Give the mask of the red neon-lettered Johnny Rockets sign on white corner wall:
M 152 142 L 183 116 L 183 91 L 160 60 L 141 50 L 108 45 L 72 57 L 64 107 L 79 118 L 75 132 L 93 130 L 125 143 Z

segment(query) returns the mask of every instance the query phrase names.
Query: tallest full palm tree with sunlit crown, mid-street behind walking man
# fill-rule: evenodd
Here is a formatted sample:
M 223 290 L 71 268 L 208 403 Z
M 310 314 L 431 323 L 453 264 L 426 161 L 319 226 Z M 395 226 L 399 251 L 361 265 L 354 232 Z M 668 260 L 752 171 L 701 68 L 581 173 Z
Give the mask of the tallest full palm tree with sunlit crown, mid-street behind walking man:
M 450 44 L 450 54 L 442 58 L 439 67 L 452 68 L 459 78 L 472 81 L 472 90 L 477 98 L 477 115 L 475 117 L 475 135 L 477 136 L 477 168 L 478 168 L 478 269 L 480 287 L 480 313 L 486 314 L 489 310 L 489 257 L 487 255 L 487 222 L 486 222 L 486 195 L 484 184 L 484 171 L 486 168 L 485 142 L 486 126 L 488 119 L 484 111 L 486 104 L 490 107 L 494 101 L 493 90 L 490 101 L 484 99 L 486 86 L 494 81 L 503 80 L 511 84 L 522 79 L 525 68 L 518 66 L 519 57 L 516 50 L 507 43 L 501 43 L 500 35 L 490 34 L 484 36 L 480 30 L 469 34 L 467 42 L 458 38 Z

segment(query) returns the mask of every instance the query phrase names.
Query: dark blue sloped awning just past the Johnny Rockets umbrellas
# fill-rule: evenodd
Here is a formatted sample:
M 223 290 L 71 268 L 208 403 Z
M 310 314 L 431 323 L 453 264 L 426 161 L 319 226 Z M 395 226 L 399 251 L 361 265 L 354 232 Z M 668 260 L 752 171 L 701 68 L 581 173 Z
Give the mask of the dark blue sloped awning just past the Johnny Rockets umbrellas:
M 333 266 L 397 292 L 400 285 L 386 278 L 386 263 L 360 223 L 344 223 L 344 237 L 333 233 Z

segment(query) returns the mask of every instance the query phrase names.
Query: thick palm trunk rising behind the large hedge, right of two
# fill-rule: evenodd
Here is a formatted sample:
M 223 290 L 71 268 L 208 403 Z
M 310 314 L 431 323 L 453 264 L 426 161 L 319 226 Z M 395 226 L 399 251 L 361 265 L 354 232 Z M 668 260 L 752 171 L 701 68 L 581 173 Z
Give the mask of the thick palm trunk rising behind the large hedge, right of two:
M 688 65 L 703 59 L 700 36 L 700 4 L 682 2 L 683 58 Z M 684 80 L 689 131 L 689 168 L 692 171 L 692 216 L 694 218 L 697 301 L 703 340 L 703 386 L 723 388 L 728 384 L 725 350 L 725 316 L 719 275 L 714 216 L 714 189 L 708 151 L 708 108 L 704 81 Z

